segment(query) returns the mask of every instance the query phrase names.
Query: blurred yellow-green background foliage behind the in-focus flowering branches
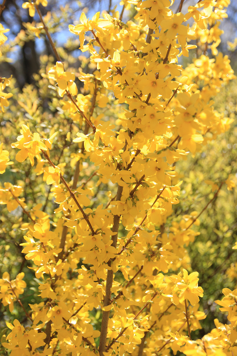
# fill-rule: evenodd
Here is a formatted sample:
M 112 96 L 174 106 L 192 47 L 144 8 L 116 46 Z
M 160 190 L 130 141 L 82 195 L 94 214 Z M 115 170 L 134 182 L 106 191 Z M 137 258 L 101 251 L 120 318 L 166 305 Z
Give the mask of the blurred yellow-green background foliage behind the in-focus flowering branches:
M 78 153 L 77 145 L 70 147 L 72 142 L 70 137 L 75 137 L 81 127 L 81 122 L 80 119 L 77 121 L 75 118 L 72 121 L 67 115 L 67 110 L 61 109 L 64 105 L 63 99 L 58 97 L 55 85 L 52 85 L 44 76 L 46 69 L 55 63 L 54 54 L 45 37 L 39 39 L 27 30 L 27 22 L 32 22 L 32 20 L 39 22 L 39 19 L 37 15 L 32 19 L 28 15 L 28 10 L 22 9 L 21 5 L 22 1 L 6 1 L 6 9 L 1 17 L 4 27 L 10 28 L 10 35 L 8 35 L 10 41 L 1 47 L 3 56 L 0 57 L 0 75 L 2 77 L 13 75 L 16 78 L 14 85 L 8 87 L 7 90 L 11 91 L 14 97 L 18 95 L 19 100 L 11 99 L 9 110 L 5 113 L 0 112 L 0 142 L 4 142 L 4 147 L 9 147 L 12 142 L 15 142 L 22 123 L 29 122 L 31 127 L 45 137 L 49 136 L 49 132 L 54 127 L 59 133 L 51 151 L 51 159 L 62 169 L 65 179 L 69 182 L 73 179 L 73 168 L 80 154 L 86 154 L 82 151 Z M 185 1 L 183 11 L 185 11 L 185 6 L 189 5 L 191 5 L 191 0 Z M 80 70 L 92 73 L 96 69 L 88 64 L 88 59 L 79 51 L 78 38 L 67 30 L 70 23 L 74 25 L 78 23 L 80 12 L 86 11 L 85 6 L 88 16 L 103 8 L 107 8 L 108 12 L 113 15 L 114 11 L 121 7 L 116 1 L 98 2 L 97 0 L 89 0 L 86 4 L 79 1 L 51 0 L 47 7 L 41 6 L 49 31 L 64 60 L 64 67 L 66 70 L 70 68 L 70 71 L 74 71 L 76 77 L 79 76 Z M 173 6 L 175 9 L 175 4 Z M 125 18 L 132 17 L 134 11 L 134 6 L 131 6 Z M 236 72 L 237 3 L 235 1 L 231 1 L 227 12 L 229 17 L 223 22 L 225 33 L 222 35 L 222 42 L 218 49 L 230 56 L 231 66 Z M 208 48 L 207 52 L 211 57 Z M 183 63 L 184 66 L 191 63 L 192 56 L 193 58 L 196 56 L 195 51 L 190 51 L 190 53 L 187 63 Z M 83 82 L 78 79 L 76 84 L 81 93 L 87 95 Z M 103 112 L 105 117 L 110 118 L 110 121 L 116 125 L 115 130 L 119 131 L 120 119 L 123 117 L 122 106 L 118 110 L 112 95 L 108 95 L 106 100 L 95 109 L 94 116 L 97 117 Z M 228 178 L 229 174 L 232 175 L 232 179 L 233 176 L 235 177 L 235 183 L 237 183 L 236 100 L 237 80 L 233 80 L 228 86 L 221 88 L 215 98 L 216 110 L 235 119 L 231 129 L 220 135 L 215 142 L 209 141 L 195 158 L 190 153 L 186 161 L 177 163 L 176 170 L 179 176 L 173 179 L 173 183 L 183 180 L 183 184 L 180 203 L 173 206 L 173 221 L 175 219 L 180 221 L 183 216 L 185 218 L 185 215 L 192 211 L 200 212 L 214 196 L 215 192 L 212 191 L 212 187 L 215 188 L 215 186 L 213 184 L 220 184 Z M 90 110 L 90 102 L 91 96 L 88 95 L 88 110 Z M 33 209 L 35 214 L 47 215 L 47 211 L 55 209 L 57 204 L 54 203 L 52 192 L 50 192 L 51 187 L 48 187 L 42 179 L 41 167 L 39 165 L 31 167 L 28 160 L 18 163 L 14 158 L 15 152 L 10 151 L 10 159 L 14 160 L 14 165 L 8 166 L 6 172 L 0 176 L 0 183 L 10 182 L 21 185 L 24 188 L 28 210 Z M 106 179 L 101 180 L 96 175 L 86 183 L 94 168 L 89 159 L 80 166 L 81 184 L 90 195 L 92 202 L 99 199 L 105 207 L 107 202 L 116 195 L 115 187 L 113 184 L 108 186 Z M 25 174 L 25 181 L 21 180 L 22 173 Z M 208 182 L 210 180 L 213 184 Z M 45 191 L 46 193 L 43 193 Z M 0 275 L 7 271 L 11 279 L 14 279 L 18 273 L 24 272 L 24 280 L 27 286 L 31 287 L 22 298 L 22 303 L 23 305 L 34 304 L 39 302 L 36 297 L 32 299 L 38 282 L 35 273 L 30 269 L 31 261 L 25 260 L 19 246 L 23 242 L 24 235 L 24 231 L 19 229 L 20 221 L 26 222 L 28 218 L 20 208 L 11 213 L 7 211 L 5 205 L 0 208 Z M 57 215 L 55 221 L 56 218 Z M 171 218 L 167 220 L 164 230 L 169 226 L 171 226 Z M 237 251 L 232 249 L 237 240 L 236 190 L 228 191 L 226 187 L 222 187 L 217 198 L 200 216 L 200 226 L 194 229 L 199 231 L 200 235 L 187 246 L 189 253 L 187 263 L 190 272 L 199 272 L 199 285 L 204 289 L 204 297 L 200 300 L 200 310 L 204 310 L 207 317 L 201 321 L 203 329 L 195 331 L 192 335 L 193 338 L 200 338 L 215 327 L 214 318 L 218 318 L 222 323 L 227 322 L 226 315 L 219 311 L 214 300 L 222 298 L 222 288 L 237 288 Z M 21 323 L 26 322 L 25 314 L 17 303 L 14 304 L 14 314 Z M 92 315 L 98 329 L 101 314 L 98 311 L 94 314 L 92 312 Z M 5 333 L 5 321 L 8 320 L 10 320 L 8 307 L 0 304 L 0 327 L 3 328 L 3 331 L 0 331 L 0 338 Z M 0 346 L 1 352 L 4 355 L 5 351 L 1 350 Z

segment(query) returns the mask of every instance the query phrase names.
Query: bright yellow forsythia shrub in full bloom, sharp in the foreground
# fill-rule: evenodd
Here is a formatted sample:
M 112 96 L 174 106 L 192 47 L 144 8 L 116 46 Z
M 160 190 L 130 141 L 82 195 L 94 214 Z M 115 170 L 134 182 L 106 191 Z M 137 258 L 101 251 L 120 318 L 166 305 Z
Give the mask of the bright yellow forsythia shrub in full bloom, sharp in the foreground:
M 224 288 L 216 301 L 228 325 L 215 319 L 211 333 L 191 339 L 205 318 L 198 310 L 204 291 L 198 272 L 187 271 L 186 250 L 201 213 L 235 186 L 231 175 L 206 182 L 214 194 L 201 211 L 167 224 L 182 184 L 175 162 L 195 157 L 233 121 L 213 109 L 235 78 L 217 50 L 230 0 L 198 1 L 186 14 L 184 0 L 176 13 L 173 2 L 124 0 L 121 14 L 97 12 L 91 20 L 83 12 L 69 25 L 85 53 L 78 74 L 54 45 L 39 9 L 47 1 L 22 5 L 38 13 L 41 22 L 25 27 L 46 34 L 56 63 L 41 58 L 37 87 L 20 92 L 14 78 L 0 83 L 0 173 L 11 165 L 17 180 L 0 189 L 14 219 L 8 231 L 2 218 L 2 233 L 24 234 L 23 263 L 35 273 L 35 303 L 27 307 L 25 274 L 0 279 L 1 302 L 13 314 L 1 335 L 6 355 L 237 355 L 237 290 Z M 133 20 L 122 22 L 133 5 Z M 6 32 L 0 25 L 2 56 Z M 178 57 L 193 48 L 196 57 L 183 68 Z

